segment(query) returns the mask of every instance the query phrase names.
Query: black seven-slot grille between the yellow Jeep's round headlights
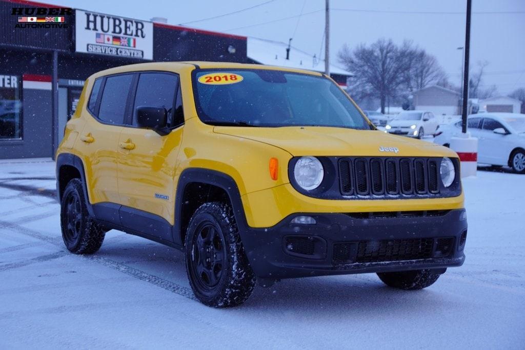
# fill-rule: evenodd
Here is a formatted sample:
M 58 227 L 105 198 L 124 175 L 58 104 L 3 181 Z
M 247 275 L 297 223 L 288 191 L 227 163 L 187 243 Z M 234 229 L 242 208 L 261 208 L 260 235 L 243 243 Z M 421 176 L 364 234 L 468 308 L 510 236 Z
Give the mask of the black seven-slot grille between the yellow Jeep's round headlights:
M 431 195 L 439 193 L 437 158 L 341 158 L 344 196 Z

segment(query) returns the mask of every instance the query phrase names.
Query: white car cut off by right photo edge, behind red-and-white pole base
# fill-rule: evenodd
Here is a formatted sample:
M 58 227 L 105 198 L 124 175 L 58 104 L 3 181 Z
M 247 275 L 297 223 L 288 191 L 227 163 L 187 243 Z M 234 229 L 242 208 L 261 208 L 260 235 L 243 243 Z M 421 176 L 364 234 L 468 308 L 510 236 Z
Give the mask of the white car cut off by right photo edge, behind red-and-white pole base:
M 478 138 L 479 163 L 525 173 L 525 114 L 473 114 L 467 120 L 470 135 Z M 459 134 L 461 121 L 439 127 L 434 142 L 448 147 Z

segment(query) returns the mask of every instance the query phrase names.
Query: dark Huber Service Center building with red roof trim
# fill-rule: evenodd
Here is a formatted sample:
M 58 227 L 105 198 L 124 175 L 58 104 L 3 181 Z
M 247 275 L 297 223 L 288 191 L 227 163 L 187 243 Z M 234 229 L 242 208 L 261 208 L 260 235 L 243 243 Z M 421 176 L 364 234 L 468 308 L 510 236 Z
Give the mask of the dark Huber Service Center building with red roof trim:
M 100 70 L 151 61 L 259 61 L 248 58 L 247 37 L 162 21 L 25 0 L 0 0 L 0 14 L 0 159 L 53 156 L 83 82 Z M 350 76 L 334 73 L 342 85 Z

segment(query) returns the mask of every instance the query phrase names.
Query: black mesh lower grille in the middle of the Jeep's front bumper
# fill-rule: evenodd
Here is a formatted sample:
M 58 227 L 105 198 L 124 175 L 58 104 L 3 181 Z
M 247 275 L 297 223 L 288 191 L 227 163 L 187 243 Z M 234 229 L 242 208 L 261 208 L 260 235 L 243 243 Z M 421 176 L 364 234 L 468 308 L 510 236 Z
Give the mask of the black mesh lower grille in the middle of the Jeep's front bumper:
M 377 263 L 428 259 L 432 257 L 434 238 L 362 240 L 358 244 L 356 263 Z

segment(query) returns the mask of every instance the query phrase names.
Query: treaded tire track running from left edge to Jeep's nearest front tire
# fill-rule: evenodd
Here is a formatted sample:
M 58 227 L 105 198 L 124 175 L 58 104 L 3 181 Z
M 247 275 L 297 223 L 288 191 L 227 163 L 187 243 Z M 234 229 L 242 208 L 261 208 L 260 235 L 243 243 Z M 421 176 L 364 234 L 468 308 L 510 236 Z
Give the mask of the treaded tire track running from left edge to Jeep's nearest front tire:
M 32 229 L 28 229 L 28 228 L 25 228 L 25 227 L 17 225 L 17 224 L 5 222 L 5 221 L 0 221 L 0 228 L 11 228 L 11 229 L 14 229 L 15 231 L 17 231 L 18 233 L 22 233 L 24 235 L 27 235 L 27 236 L 30 236 L 30 237 L 33 237 L 33 238 L 36 238 L 36 239 L 44 240 L 45 242 L 48 242 L 48 243 L 53 244 L 53 245 L 56 245 L 58 247 L 62 247 L 63 246 L 61 238 L 49 237 L 49 236 L 43 235 L 43 234 L 41 234 L 39 232 L 33 231 Z M 64 253 L 64 255 L 68 255 L 67 252 L 64 252 L 64 251 L 62 251 L 62 252 Z M 112 268 L 114 270 L 122 272 L 123 274 L 126 274 L 128 276 L 132 276 L 132 277 L 134 277 L 136 279 L 139 279 L 141 281 L 145 281 L 145 282 L 151 283 L 154 286 L 157 286 L 157 287 L 160 287 L 160 288 L 165 289 L 167 291 L 170 291 L 172 293 L 178 294 L 178 295 L 180 295 L 182 297 L 185 297 L 185 298 L 188 298 L 188 299 L 191 299 L 191 300 L 195 300 L 195 301 L 197 300 L 195 298 L 191 288 L 187 288 L 187 287 L 184 287 L 184 286 L 181 286 L 181 285 L 177 285 L 177 283 L 173 283 L 171 281 L 165 280 L 165 279 L 157 277 L 155 275 L 148 274 L 147 272 L 144 272 L 142 270 L 139 270 L 139 269 L 136 269 L 136 268 L 133 268 L 133 267 L 130 267 L 130 266 L 118 263 L 118 261 L 114 261 L 114 260 L 108 259 L 106 257 L 101 257 L 101 256 L 96 256 L 96 255 L 89 255 L 89 256 L 88 255 L 82 255 L 80 257 L 82 259 L 86 259 L 86 260 L 89 260 L 89 261 L 94 261 L 94 262 L 99 263 L 99 264 L 101 264 L 103 266 Z M 2 271 L 1 268 L 0 268 L 0 271 Z

